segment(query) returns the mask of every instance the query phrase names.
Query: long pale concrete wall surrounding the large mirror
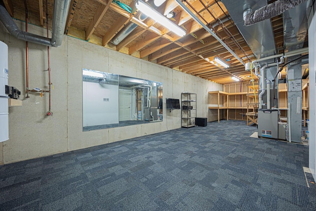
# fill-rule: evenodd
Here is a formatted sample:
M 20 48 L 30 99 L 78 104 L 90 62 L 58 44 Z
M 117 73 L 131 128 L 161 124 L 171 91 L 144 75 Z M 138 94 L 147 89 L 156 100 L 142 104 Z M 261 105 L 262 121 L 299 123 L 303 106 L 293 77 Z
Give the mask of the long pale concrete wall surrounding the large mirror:
M 24 30 L 24 23 L 16 21 Z M 29 25 L 45 36 L 45 29 Z M 0 23 L 0 40 L 9 47 L 9 85 L 21 90 L 23 106 L 9 108 L 9 140 L 0 144 L 0 163 L 11 163 L 106 144 L 181 127 L 181 111 L 167 112 L 165 98 L 197 93 L 197 116 L 208 116 L 208 91 L 215 84 L 117 51 L 65 36 L 51 48 L 53 116 L 47 117 L 48 96 L 25 95 L 25 42 L 11 37 Z M 48 88 L 47 47 L 29 43 L 30 87 Z M 128 64 L 128 65 L 127 65 Z M 163 122 L 82 132 L 82 68 L 163 83 Z M 209 119 L 210 121 L 210 119 Z

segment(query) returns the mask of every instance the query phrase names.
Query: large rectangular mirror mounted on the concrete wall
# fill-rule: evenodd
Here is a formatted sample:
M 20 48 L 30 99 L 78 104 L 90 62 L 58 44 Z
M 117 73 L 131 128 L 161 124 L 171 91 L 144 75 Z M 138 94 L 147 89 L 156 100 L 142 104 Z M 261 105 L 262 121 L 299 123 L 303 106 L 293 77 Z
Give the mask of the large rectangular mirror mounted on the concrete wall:
M 82 69 L 83 131 L 162 121 L 162 83 Z

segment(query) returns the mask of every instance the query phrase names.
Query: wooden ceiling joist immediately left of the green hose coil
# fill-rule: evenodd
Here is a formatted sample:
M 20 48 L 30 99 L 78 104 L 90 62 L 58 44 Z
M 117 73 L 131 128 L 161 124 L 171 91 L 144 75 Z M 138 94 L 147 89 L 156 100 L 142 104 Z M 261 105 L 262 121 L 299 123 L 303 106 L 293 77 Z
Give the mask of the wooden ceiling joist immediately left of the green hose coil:
M 89 26 L 87 27 L 87 30 L 85 31 L 85 40 L 89 40 L 91 35 L 93 34 L 95 28 L 98 26 L 100 21 L 102 20 L 103 16 L 109 9 L 111 5 L 112 0 L 108 0 L 107 5 L 100 4 L 97 10 L 95 11 L 92 20 L 89 23 Z

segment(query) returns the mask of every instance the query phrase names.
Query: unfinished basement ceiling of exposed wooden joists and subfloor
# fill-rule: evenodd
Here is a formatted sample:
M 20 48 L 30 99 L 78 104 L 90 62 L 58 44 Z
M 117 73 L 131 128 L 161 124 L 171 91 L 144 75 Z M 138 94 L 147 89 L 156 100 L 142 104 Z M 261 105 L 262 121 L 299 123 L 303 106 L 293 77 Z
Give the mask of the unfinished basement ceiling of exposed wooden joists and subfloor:
M 267 5 L 274 1 L 261 0 L 260 5 Z M 146 19 L 139 18 L 141 12 L 136 10 L 135 1 L 121 0 L 120 2 L 129 5 L 133 9 L 132 12 L 129 13 L 123 10 L 112 0 L 72 0 L 66 33 L 69 36 L 103 45 L 219 84 L 234 82 L 231 79 L 232 76 L 237 76 L 243 82 L 251 79 L 250 73 L 244 70 L 243 64 L 184 11 L 175 0 L 166 0 L 157 10 L 161 14 L 173 11 L 175 17 L 172 21 L 186 30 L 186 36 L 184 37 L 177 36 L 149 17 Z M 229 0 L 223 0 L 223 2 L 229 2 Z M 244 63 L 249 62 L 258 57 L 258 55 L 251 50 L 252 43 L 245 40 L 247 36 L 240 34 L 242 30 L 237 28 L 234 18 L 230 16 L 223 2 L 220 0 L 183 1 L 199 20 L 211 28 L 237 54 L 237 57 Z M 234 2 L 234 5 L 235 7 L 242 7 L 245 2 L 249 3 L 250 1 L 238 0 Z M 25 21 L 24 0 L 3 0 L 3 3 L 11 16 Z M 258 6 L 255 5 L 257 4 L 255 0 L 253 0 L 253 3 L 254 7 Z M 45 0 L 27 0 L 29 23 L 45 27 L 45 5 Z M 237 9 L 240 10 L 241 8 Z M 304 8 L 301 10 L 306 13 Z M 300 11 L 296 10 L 297 12 Z M 48 0 L 50 26 L 53 17 L 52 13 L 53 0 Z M 306 15 L 305 13 L 303 16 Z M 284 41 L 283 35 L 287 31 L 283 30 L 283 14 L 268 20 L 272 27 L 272 35 L 270 37 L 272 39 L 271 43 L 274 43 L 274 46 L 272 46 L 274 48 L 273 53 L 282 53 L 284 51 L 283 46 L 286 41 Z M 242 19 L 242 13 L 239 15 L 238 21 Z M 300 20 L 302 19 L 302 15 L 297 15 L 297 17 Z M 295 19 L 295 17 L 291 18 Z M 302 21 L 296 22 L 301 24 Z M 292 21 L 291 23 L 296 22 Z M 111 40 L 118 33 L 126 30 L 132 24 L 136 24 L 134 25 L 134 30 L 126 38 L 122 39 L 117 45 L 111 43 Z M 240 22 L 237 24 L 240 25 Z M 296 27 L 300 27 L 300 25 Z M 253 25 L 252 29 L 253 33 L 255 33 L 256 26 Z M 126 31 L 129 30 L 127 29 Z M 304 33 L 300 32 L 300 40 L 298 42 L 300 42 L 300 47 L 306 47 L 308 46 L 307 33 L 304 34 L 304 38 L 302 38 L 302 34 Z M 291 43 L 293 43 L 293 37 L 290 39 Z M 224 60 L 230 67 L 218 67 L 207 61 L 212 61 L 215 56 Z

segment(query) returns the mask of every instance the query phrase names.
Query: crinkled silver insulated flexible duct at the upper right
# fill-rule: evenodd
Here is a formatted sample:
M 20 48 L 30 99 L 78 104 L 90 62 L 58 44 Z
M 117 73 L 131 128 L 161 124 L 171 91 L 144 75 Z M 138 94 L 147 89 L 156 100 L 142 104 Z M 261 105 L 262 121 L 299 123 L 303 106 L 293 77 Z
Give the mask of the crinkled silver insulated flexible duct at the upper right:
M 260 21 L 273 18 L 305 1 L 306 0 L 277 0 L 264 7 L 261 7 L 260 9 L 255 10 L 254 12 L 246 14 L 244 17 L 245 26 L 250 26 Z

